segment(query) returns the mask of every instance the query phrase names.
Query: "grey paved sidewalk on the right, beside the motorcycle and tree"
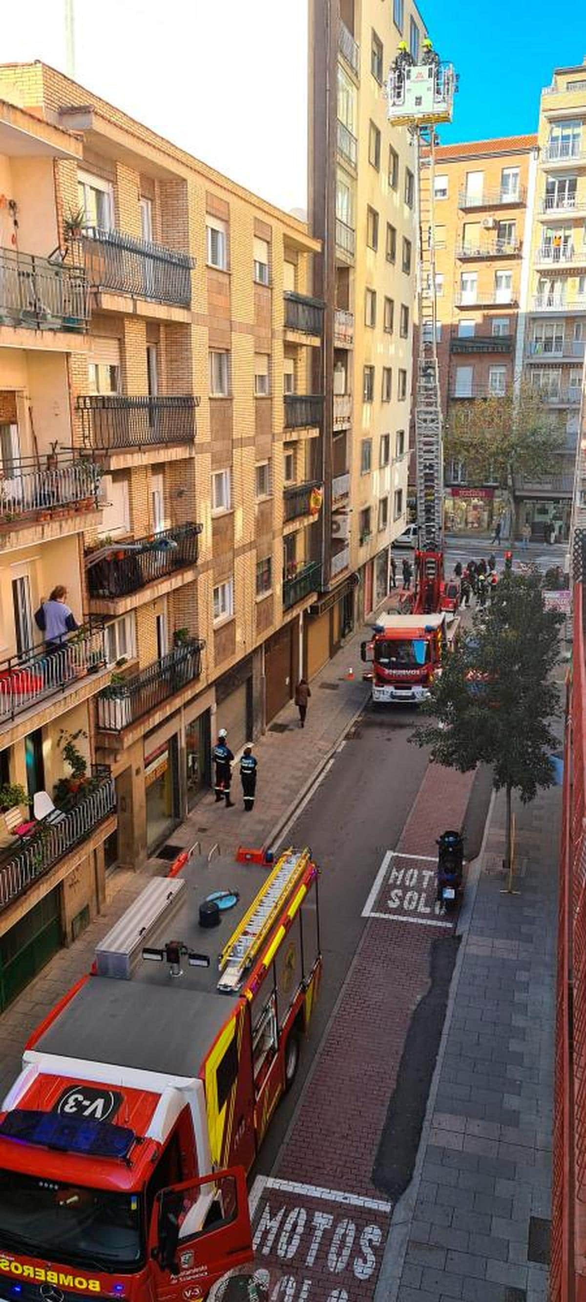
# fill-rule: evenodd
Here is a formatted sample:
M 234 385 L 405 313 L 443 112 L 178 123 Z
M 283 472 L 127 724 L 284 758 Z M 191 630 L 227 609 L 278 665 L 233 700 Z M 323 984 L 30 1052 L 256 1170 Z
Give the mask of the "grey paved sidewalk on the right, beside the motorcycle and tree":
M 544 1302 L 551 1216 L 560 792 L 517 809 L 503 893 L 494 805 L 415 1177 L 397 1203 L 380 1302 Z

